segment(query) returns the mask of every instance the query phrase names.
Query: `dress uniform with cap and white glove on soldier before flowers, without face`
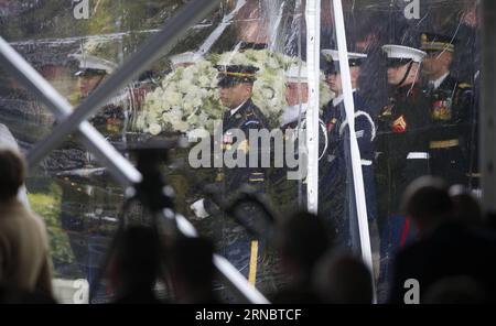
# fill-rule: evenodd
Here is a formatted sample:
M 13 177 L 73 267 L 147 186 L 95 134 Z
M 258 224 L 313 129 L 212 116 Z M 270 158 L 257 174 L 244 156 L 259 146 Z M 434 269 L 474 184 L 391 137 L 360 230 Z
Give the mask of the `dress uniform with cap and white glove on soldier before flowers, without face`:
M 252 85 L 256 79 L 256 72 L 252 66 L 244 65 L 217 65 L 219 70 L 218 86 L 227 94 L 235 91 L 231 89 L 237 84 Z M 266 171 L 261 169 L 262 146 L 258 139 L 258 151 L 254 152 L 256 144 L 250 143 L 250 130 L 258 132 L 267 128 L 268 122 L 260 109 L 248 98 L 237 108 L 229 108 L 223 117 L 222 134 L 219 130 L 214 135 L 214 153 L 224 156 L 222 169 L 217 169 L 215 182 L 207 187 L 209 192 L 216 193 L 216 197 L 222 197 L 225 203 L 233 203 L 244 187 L 251 188 L 251 192 L 261 194 L 266 192 Z M 242 138 L 238 139 L 242 133 Z M 215 154 L 214 154 L 215 155 Z M 250 157 L 256 155 L 258 166 L 250 166 Z M 236 163 L 245 163 L 245 166 L 228 166 L 226 159 L 233 157 Z M 248 280 L 255 284 L 257 274 L 257 263 L 260 257 L 262 241 L 255 239 L 245 226 L 252 229 L 261 220 L 261 211 L 256 204 L 242 203 L 231 207 L 230 213 L 222 211 L 216 203 L 208 198 L 203 198 L 194 203 L 191 208 L 195 215 L 211 224 L 212 237 L 217 250 L 226 257 Z M 235 220 L 242 218 L 242 225 Z

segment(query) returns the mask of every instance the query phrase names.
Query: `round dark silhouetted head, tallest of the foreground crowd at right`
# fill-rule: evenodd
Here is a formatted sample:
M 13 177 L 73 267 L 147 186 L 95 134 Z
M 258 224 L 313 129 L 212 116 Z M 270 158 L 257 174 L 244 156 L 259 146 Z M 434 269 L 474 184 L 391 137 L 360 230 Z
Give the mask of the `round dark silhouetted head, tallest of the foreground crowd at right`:
M 402 210 L 416 222 L 420 233 L 453 219 L 449 188 L 442 180 L 432 176 L 422 176 L 408 186 Z

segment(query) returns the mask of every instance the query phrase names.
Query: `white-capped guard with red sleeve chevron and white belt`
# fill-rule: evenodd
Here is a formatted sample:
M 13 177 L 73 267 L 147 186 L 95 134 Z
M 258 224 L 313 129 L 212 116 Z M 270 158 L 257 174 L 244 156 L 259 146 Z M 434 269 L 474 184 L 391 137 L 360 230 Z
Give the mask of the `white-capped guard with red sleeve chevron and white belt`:
M 420 65 L 423 51 L 402 45 L 384 45 L 387 59 L 389 105 L 378 117 L 377 184 L 381 275 L 390 272 L 388 257 L 414 236 L 410 221 L 400 214 L 400 198 L 407 186 L 429 174 L 429 104 L 422 93 Z

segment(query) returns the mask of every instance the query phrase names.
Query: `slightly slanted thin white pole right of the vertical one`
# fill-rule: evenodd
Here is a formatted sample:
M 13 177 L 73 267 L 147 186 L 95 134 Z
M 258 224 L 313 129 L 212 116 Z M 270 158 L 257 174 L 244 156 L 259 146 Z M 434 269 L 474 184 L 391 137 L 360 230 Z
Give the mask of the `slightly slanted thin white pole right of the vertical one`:
M 360 235 L 362 258 L 364 262 L 368 265 L 370 271 L 374 271 L 370 236 L 368 231 L 367 205 L 365 200 L 364 176 L 362 173 L 362 163 L 360 163 L 362 157 L 355 134 L 355 104 L 353 101 L 352 77 L 349 75 L 348 50 L 346 45 L 346 32 L 343 18 L 343 6 L 341 3 L 341 0 L 334 0 L 333 3 L 334 3 L 334 18 L 336 24 L 335 28 L 337 36 L 337 51 L 339 55 L 339 69 L 343 83 L 344 104 L 349 128 L 353 184 L 355 186 L 355 199 L 356 199 L 356 210 L 358 215 L 358 229 Z

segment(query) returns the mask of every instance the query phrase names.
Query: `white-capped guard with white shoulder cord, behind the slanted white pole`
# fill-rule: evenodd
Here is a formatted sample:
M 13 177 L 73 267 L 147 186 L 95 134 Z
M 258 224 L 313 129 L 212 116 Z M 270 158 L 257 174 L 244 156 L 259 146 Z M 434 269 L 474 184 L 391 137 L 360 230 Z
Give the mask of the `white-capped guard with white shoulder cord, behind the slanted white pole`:
M 336 228 L 339 244 L 344 246 L 345 249 L 353 250 L 359 248 L 359 236 L 352 174 L 349 119 L 346 117 L 344 106 L 338 53 L 334 50 L 323 50 L 322 54 L 326 63 L 326 83 L 336 97 L 324 107 L 323 120 L 326 126 L 328 148 L 325 160 L 320 164 L 321 198 L 319 202 L 321 203 L 323 215 L 331 217 Z M 360 151 L 367 215 L 369 219 L 374 219 L 376 216 L 374 181 L 376 127 L 369 115 L 370 108 L 356 91 L 360 65 L 366 57 L 366 54 L 348 53 L 355 105 L 355 130 Z

